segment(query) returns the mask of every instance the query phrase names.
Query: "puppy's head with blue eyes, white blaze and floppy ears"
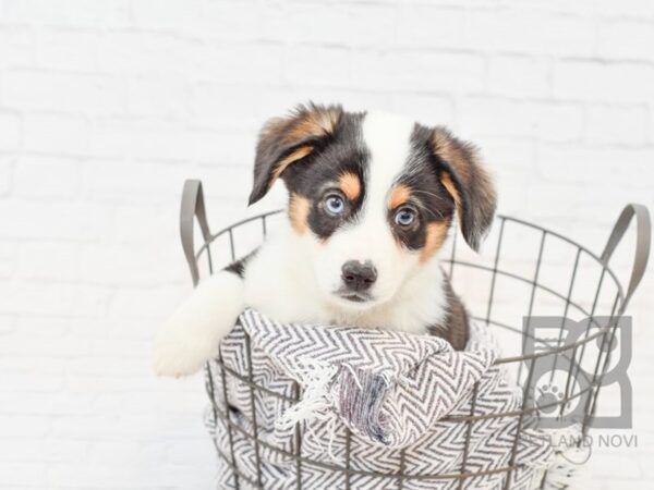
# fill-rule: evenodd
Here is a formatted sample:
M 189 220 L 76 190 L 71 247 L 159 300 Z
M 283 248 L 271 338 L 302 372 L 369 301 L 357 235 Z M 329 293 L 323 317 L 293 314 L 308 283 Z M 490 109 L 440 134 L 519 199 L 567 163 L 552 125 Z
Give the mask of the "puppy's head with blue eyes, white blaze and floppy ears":
M 384 113 L 308 105 L 269 121 L 250 203 L 278 177 L 307 267 L 341 308 L 391 299 L 437 256 L 455 210 L 474 249 L 495 212 L 495 189 L 471 145 Z

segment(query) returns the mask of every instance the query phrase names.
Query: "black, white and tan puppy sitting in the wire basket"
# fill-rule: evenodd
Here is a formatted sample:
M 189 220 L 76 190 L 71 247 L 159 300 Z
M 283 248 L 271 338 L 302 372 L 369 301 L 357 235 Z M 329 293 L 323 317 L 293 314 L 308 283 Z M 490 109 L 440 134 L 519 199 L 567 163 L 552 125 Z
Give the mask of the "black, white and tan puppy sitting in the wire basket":
M 468 316 L 438 252 L 455 211 L 474 249 L 493 220 L 495 191 L 471 145 L 396 115 L 308 105 L 264 126 L 250 203 L 277 179 L 288 225 L 195 290 L 157 338 L 158 373 L 198 370 L 246 306 L 463 348 Z

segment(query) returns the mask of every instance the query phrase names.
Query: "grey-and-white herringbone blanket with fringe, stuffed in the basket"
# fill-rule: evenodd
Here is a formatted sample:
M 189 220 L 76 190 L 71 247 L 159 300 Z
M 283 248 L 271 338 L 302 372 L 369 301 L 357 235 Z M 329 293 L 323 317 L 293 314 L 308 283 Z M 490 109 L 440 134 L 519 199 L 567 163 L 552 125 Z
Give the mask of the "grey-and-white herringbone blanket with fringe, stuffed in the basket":
M 246 310 L 221 343 L 229 371 L 207 368 L 219 488 L 501 489 L 498 469 L 511 463 L 509 488 L 536 488 L 555 451 L 526 420 L 514 446 L 518 417 L 492 417 L 522 402 L 497 353 L 474 324 L 456 352 L 433 336 L 281 324 Z M 250 373 L 265 391 L 252 390 Z M 456 420 L 471 414 L 481 418 Z M 256 443 L 244 436 L 255 427 Z M 462 471 L 481 475 L 452 478 Z

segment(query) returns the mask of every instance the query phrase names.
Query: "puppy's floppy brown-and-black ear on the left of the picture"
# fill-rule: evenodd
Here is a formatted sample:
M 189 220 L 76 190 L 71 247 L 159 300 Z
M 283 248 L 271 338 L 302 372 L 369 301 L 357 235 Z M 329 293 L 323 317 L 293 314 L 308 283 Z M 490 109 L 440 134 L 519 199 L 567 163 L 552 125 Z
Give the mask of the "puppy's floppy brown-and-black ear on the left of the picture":
M 271 119 L 259 133 L 254 161 L 254 184 L 250 203 L 264 197 L 272 183 L 291 164 L 324 145 L 336 132 L 340 106 L 298 106 L 288 117 Z

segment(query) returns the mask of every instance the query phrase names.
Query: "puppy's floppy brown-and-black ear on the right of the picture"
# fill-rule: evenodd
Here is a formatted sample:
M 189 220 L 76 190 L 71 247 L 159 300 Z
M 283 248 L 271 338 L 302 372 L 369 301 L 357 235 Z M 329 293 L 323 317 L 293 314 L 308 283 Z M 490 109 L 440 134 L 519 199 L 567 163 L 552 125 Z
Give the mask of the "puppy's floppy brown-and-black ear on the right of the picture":
M 463 237 L 477 250 L 497 206 L 491 175 L 481 163 L 476 148 L 457 139 L 449 131 L 436 127 L 431 145 L 440 163 L 440 182 L 457 205 Z

